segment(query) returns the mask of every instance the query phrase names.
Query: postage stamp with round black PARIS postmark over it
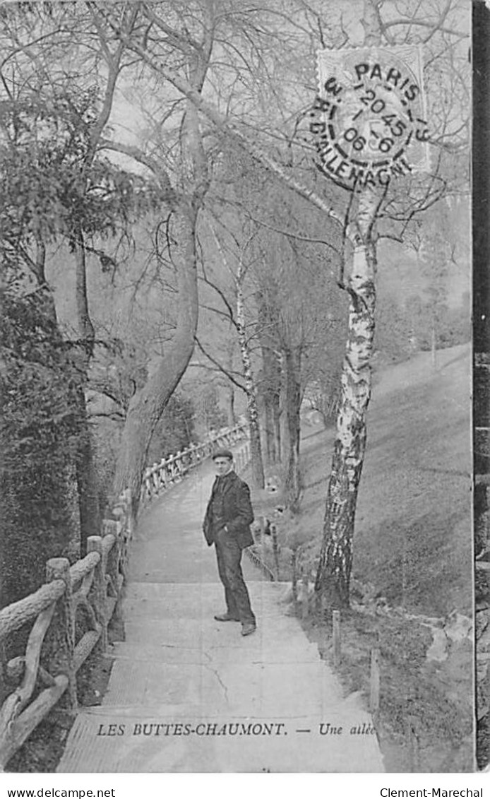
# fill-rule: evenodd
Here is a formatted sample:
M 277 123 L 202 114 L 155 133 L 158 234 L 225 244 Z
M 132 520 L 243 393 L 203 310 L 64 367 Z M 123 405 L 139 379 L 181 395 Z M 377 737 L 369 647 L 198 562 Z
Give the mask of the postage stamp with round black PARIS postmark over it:
M 407 55 L 407 48 L 318 54 L 320 92 L 310 111 L 317 166 L 348 189 L 426 168 L 421 69 Z

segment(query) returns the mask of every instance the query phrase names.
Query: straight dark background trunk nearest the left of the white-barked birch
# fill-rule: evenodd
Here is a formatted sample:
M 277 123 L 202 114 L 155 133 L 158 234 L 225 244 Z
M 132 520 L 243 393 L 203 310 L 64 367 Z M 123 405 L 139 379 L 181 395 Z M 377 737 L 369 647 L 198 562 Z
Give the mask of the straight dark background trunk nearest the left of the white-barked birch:
M 287 425 L 286 504 L 293 513 L 298 511 L 301 479 L 299 473 L 299 437 L 301 433 L 301 353 L 299 348 L 284 351 L 284 411 Z

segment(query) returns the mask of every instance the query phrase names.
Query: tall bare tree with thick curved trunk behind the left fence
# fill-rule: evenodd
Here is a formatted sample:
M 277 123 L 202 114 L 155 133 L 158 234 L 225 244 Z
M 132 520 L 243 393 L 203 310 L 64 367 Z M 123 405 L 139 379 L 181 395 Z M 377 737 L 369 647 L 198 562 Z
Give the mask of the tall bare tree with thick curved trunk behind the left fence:
M 121 30 L 117 13 L 101 4 L 90 4 L 94 13 L 104 21 L 101 42 L 108 38 L 118 38 L 124 42 L 127 34 Z M 135 8 L 141 13 L 141 4 Z M 203 6 L 200 15 L 180 14 L 172 8 L 165 18 L 160 18 L 147 9 L 160 44 L 160 58 L 163 63 L 172 64 L 178 72 L 185 74 L 192 90 L 202 93 L 213 46 L 213 22 L 211 8 Z M 117 22 L 114 19 L 117 18 Z M 138 31 L 146 18 L 139 17 Z M 174 26 L 171 28 L 171 26 Z M 189 28 L 192 28 L 193 35 Z M 146 25 L 146 37 L 152 38 Z M 143 75 L 141 80 L 148 80 Z M 209 185 L 207 153 L 196 105 L 190 101 L 184 104 L 165 95 L 165 89 L 156 86 L 157 97 L 162 97 L 161 110 L 156 112 L 157 127 L 160 125 L 160 141 L 149 152 L 134 145 L 122 145 L 112 139 L 101 143 L 105 149 L 123 153 L 140 165 L 151 170 L 160 185 L 164 203 L 164 216 L 168 217 L 166 232 L 167 258 L 176 272 L 176 328 L 172 341 L 164 355 L 152 364 L 148 381 L 129 403 L 121 451 L 117 460 L 114 479 L 116 492 L 128 488 L 131 491 L 132 507 L 136 515 L 140 497 L 140 485 L 148 446 L 152 432 L 160 419 L 172 392 L 188 367 L 194 349 L 194 339 L 198 320 L 197 291 L 197 243 L 196 229 L 200 209 Z M 163 92 L 163 94 L 162 94 Z M 150 106 L 155 109 L 155 101 L 150 98 Z

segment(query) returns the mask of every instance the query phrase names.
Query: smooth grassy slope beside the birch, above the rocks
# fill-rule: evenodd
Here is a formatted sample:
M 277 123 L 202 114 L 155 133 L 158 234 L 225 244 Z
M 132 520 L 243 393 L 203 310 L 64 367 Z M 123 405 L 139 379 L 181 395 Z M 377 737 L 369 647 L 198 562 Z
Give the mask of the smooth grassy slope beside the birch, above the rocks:
M 431 615 L 472 607 L 468 345 L 375 376 L 354 543 L 354 576 L 390 604 Z M 307 428 L 306 428 L 307 429 Z M 332 433 L 303 441 L 301 527 L 318 552 Z

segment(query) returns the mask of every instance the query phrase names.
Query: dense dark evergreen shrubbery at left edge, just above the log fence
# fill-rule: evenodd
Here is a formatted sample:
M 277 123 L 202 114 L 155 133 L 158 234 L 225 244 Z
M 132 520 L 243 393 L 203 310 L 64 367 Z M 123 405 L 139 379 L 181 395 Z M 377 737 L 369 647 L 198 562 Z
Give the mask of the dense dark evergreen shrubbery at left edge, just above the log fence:
M 2 296 L 0 604 L 44 582 L 73 536 L 70 481 L 80 430 L 77 375 L 42 292 Z

